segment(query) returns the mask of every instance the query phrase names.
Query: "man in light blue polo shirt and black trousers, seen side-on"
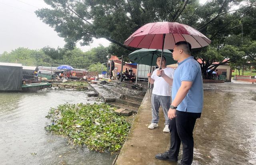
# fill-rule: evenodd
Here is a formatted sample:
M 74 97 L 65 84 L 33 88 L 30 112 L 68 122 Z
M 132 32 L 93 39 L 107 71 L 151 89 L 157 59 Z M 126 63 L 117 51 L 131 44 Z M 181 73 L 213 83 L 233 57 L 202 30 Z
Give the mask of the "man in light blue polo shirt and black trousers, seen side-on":
M 172 104 L 168 111 L 170 129 L 170 149 L 158 153 L 157 159 L 178 161 L 180 143 L 182 159 L 179 164 L 191 165 L 193 161 L 193 130 L 196 119 L 200 118 L 203 107 L 203 82 L 201 67 L 190 55 L 191 45 L 186 41 L 175 44 L 172 57 L 178 61 L 172 85 Z M 164 71 L 157 75 L 170 81 Z

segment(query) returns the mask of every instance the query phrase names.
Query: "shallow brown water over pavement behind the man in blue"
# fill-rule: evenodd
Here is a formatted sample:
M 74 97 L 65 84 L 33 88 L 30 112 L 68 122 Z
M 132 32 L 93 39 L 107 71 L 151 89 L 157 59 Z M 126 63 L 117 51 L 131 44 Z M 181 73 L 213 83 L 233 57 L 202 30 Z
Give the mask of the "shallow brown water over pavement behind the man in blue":
M 256 84 L 204 84 L 193 165 L 256 165 Z

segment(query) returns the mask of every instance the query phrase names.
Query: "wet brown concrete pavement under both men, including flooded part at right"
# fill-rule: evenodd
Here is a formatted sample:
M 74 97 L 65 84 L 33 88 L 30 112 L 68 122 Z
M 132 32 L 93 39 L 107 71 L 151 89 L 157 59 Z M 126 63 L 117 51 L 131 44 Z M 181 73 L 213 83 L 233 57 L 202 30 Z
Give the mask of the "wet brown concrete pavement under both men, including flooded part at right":
M 154 158 L 170 146 L 169 134 L 151 120 L 150 94 L 146 94 L 116 165 L 175 165 Z M 256 84 L 204 84 L 204 109 L 194 129 L 193 165 L 256 164 Z M 180 151 L 179 160 L 182 151 Z

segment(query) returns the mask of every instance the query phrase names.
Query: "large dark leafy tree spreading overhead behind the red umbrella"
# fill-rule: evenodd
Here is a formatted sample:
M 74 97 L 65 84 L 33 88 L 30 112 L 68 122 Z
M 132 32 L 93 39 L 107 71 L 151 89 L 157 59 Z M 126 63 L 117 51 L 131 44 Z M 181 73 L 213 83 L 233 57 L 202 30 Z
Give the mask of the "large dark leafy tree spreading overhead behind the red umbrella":
M 211 48 L 202 49 L 207 57 L 203 57 L 202 53 L 198 55 L 206 59 L 206 65 L 201 64 L 202 73 L 207 71 L 211 61 L 217 61 L 216 58 L 222 56 L 220 50 L 228 45 L 227 37 L 241 34 L 256 36 L 255 26 L 250 23 L 255 19 L 255 0 L 211 0 L 202 5 L 199 0 L 44 1 L 52 9 L 37 10 L 36 15 L 54 28 L 60 37 L 64 37 L 68 45 L 73 47 L 79 41 L 81 45 L 88 45 L 93 37 L 103 37 L 117 45 L 111 45 L 108 51 L 116 52 L 118 57 L 128 53 L 126 50 L 134 51 L 123 43 L 136 29 L 146 23 L 167 20 L 192 26 L 212 40 Z M 232 10 L 236 5 L 240 5 L 240 8 Z M 241 30 L 243 24 L 248 25 L 244 32 Z M 231 51 L 230 48 L 225 49 Z M 213 54 L 206 53 L 208 50 Z M 228 54 L 230 56 L 230 53 Z M 236 60 L 237 55 L 235 56 L 230 61 Z

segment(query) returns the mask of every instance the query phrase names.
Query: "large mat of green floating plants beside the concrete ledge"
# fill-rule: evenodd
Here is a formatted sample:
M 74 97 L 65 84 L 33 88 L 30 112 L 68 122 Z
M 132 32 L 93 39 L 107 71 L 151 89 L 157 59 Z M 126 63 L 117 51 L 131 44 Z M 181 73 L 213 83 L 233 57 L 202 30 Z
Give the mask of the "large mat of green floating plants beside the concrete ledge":
M 131 124 L 126 117 L 114 113 L 108 104 L 61 104 L 50 108 L 47 118 L 52 125 L 46 130 L 68 136 L 74 145 L 89 149 L 117 153 L 122 148 Z

